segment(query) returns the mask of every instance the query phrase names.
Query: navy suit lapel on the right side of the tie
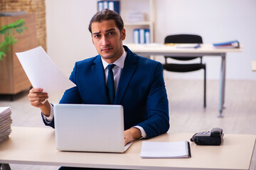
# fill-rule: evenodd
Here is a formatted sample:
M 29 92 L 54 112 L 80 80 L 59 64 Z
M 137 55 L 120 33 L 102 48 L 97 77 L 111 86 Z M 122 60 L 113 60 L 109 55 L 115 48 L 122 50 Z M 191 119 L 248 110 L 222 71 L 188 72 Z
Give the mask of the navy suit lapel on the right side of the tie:
M 137 61 L 134 58 L 134 54 L 129 49 L 127 49 L 127 57 L 124 61 L 124 68 L 122 69 L 122 74 L 119 79 L 114 104 L 121 103 L 122 98 L 124 96 L 124 92 L 129 84 L 129 81 L 132 79 L 132 76 L 136 70 L 136 62 Z

